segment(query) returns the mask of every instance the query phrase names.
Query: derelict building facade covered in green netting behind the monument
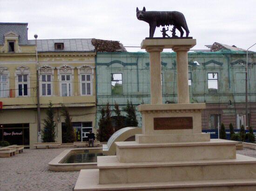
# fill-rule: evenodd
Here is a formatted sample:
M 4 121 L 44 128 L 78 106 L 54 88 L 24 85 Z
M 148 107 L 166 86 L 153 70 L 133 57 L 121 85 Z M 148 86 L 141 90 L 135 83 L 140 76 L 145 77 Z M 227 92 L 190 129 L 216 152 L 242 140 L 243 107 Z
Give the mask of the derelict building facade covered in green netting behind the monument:
M 249 52 L 249 125 L 256 127 L 256 53 Z M 175 52 L 162 52 L 163 103 L 177 103 Z M 216 129 L 221 123 L 235 128 L 245 125 L 246 51 L 229 47 L 210 52 L 189 52 L 190 102 L 205 102 L 202 128 Z M 147 52 L 98 52 L 96 59 L 97 122 L 107 102 L 125 107 L 150 103 L 149 55 Z M 113 113 L 114 115 L 114 113 Z M 122 111 L 122 115 L 126 114 Z M 141 115 L 137 112 L 141 126 Z

